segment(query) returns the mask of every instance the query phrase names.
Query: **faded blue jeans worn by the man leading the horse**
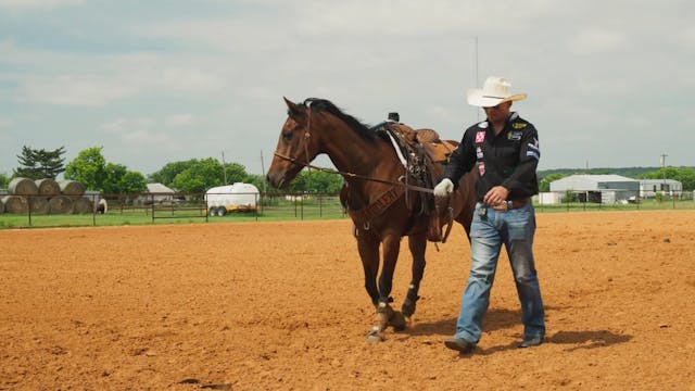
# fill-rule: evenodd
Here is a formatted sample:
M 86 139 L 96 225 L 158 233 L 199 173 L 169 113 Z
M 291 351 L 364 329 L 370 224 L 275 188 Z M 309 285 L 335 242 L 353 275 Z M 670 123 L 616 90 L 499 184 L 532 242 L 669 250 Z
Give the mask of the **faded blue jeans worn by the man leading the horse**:
M 482 320 L 490 304 L 490 289 L 495 278 L 500 250 L 504 243 L 521 303 L 523 339 L 545 336 L 545 319 L 541 288 L 533 263 L 533 234 L 535 212 L 531 202 L 525 206 L 497 212 L 488 207 L 481 217 L 476 205 L 470 227 L 472 262 L 468 285 L 464 291 L 460 312 L 456 321 L 456 338 L 477 343 L 480 340 Z

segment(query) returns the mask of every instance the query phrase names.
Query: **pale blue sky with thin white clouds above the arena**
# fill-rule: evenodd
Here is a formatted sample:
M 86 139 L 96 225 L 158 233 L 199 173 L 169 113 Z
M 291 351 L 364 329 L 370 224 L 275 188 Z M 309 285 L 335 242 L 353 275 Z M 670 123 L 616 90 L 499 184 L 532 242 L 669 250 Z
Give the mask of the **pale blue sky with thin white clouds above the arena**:
M 459 140 L 488 76 L 528 93 L 540 169 L 693 166 L 693 70 L 690 0 L 0 0 L 0 173 L 28 146 L 263 174 L 282 97 Z

